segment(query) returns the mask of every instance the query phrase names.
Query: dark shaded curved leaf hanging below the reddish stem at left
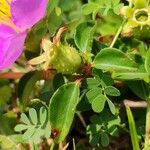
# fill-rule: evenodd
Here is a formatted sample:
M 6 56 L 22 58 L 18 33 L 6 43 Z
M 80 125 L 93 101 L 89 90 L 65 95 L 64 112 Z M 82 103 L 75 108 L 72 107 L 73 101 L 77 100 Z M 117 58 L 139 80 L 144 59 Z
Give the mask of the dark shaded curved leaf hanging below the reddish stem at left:
M 42 77 L 42 71 L 33 71 L 25 74 L 18 84 L 19 102 L 22 104 L 22 109 L 25 109 L 29 102 L 29 96 L 35 87 L 35 83 Z

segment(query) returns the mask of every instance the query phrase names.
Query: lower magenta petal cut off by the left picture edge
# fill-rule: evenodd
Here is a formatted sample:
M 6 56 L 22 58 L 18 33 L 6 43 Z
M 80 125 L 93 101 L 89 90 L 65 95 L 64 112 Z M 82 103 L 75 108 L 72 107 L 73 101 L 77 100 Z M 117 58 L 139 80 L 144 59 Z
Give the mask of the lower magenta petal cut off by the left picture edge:
M 9 67 L 20 56 L 27 33 L 16 33 L 12 28 L 0 25 L 0 69 Z

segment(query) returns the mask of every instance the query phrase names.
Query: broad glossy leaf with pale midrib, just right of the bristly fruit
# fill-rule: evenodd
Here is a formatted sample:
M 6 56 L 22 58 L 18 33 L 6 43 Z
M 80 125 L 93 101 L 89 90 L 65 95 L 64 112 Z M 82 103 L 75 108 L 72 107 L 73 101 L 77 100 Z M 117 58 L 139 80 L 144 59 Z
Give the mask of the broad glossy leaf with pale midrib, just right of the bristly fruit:
M 135 71 L 136 63 L 115 48 L 102 49 L 95 57 L 93 67 L 106 71 Z

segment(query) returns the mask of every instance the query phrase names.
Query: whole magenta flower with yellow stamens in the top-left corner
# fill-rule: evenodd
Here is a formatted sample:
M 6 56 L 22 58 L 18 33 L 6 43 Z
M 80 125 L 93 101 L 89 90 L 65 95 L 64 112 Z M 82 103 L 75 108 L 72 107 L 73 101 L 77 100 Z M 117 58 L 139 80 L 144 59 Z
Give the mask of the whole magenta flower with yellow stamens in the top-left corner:
M 0 2 L 0 69 L 9 67 L 20 56 L 26 29 L 44 17 L 48 3 L 48 0 L 2 1 L 10 8 L 10 16 L 6 17 L 7 14 L 1 10 L 3 2 Z

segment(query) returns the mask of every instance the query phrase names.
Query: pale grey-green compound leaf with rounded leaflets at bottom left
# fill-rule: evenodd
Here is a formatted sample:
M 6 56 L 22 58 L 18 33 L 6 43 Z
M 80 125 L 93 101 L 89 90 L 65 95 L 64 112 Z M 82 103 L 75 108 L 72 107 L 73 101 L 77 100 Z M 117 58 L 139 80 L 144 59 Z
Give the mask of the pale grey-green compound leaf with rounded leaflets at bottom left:
M 37 116 L 37 111 L 33 108 L 29 109 L 29 117 L 32 123 L 29 124 L 29 119 L 27 116 L 22 113 L 21 114 L 21 121 L 25 124 L 18 124 L 15 127 L 16 132 L 20 132 L 26 130 L 25 133 L 22 135 L 23 142 L 30 142 L 34 144 L 39 144 L 42 138 L 48 139 L 51 134 L 51 126 L 50 122 L 47 119 L 48 113 L 45 107 L 40 108 L 39 116 Z M 38 122 L 38 118 L 40 119 Z

